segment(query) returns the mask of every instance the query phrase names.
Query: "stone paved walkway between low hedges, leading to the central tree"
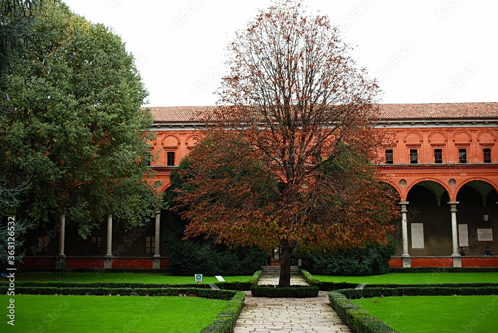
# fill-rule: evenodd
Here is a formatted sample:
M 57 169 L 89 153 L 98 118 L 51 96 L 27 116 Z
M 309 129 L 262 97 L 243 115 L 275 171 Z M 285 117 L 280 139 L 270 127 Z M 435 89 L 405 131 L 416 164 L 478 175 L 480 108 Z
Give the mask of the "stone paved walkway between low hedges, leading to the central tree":
M 278 274 L 263 273 L 258 284 L 278 284 Z M 291 284 L 306 281 L 292 274 Z M 247 295 L 234 333 L 352 332 L 330 307 L 327 292 L 321 291 L 313 298 L 252 297 L 250 291 Z

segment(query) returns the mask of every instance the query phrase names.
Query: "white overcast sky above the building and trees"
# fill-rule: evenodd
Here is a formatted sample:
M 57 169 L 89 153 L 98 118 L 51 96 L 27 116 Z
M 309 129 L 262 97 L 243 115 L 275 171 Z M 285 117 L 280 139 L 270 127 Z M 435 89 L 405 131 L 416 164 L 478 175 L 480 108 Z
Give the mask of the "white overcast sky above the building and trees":
M 208 106 L 226 46 L 270 0 L 66 0 L 123 38 L 147 106 Z M 498 1 L 304 0 L 341 27 L 381 103 L 498 102 Z

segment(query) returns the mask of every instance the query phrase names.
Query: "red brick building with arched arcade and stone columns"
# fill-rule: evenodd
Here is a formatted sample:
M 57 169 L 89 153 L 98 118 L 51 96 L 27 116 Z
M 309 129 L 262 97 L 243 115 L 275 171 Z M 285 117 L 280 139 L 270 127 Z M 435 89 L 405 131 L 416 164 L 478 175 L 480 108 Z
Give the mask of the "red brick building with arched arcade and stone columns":
M 210 108 L 152 108 L 152 152 L 159 158 L 151 168 L 162 191 L 171 169 L 203 137 L 195 111 Z M 378 128 L 389 142 L 378 152 L 385 162 L 379 167 L 402 212 L 393 221 L 398 251 L 391 266 L 498 267 L 498 257 L 484 256 L 486 247 L 498 253 L 498 103 L 384 104 L 380 114 Z M 157 241 L 166 220 L 157 212 L 155 221 L 120 230 L 110 217 L 86 240 L 70 222 L 57 221 L 28 232 L 24 265 L 52 267 L 63 253 L 68 268 L 166 268 Z

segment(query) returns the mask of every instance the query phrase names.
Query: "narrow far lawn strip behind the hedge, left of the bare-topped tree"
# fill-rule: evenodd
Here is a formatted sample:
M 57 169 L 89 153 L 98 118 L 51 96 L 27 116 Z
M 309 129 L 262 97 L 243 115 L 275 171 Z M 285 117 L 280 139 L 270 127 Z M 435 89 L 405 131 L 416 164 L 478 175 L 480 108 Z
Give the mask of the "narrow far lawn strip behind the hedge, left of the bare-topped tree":
M 139 282 L 139 283 L 167 283 L 184 284 L 195 283 L 194 276 L 171 276 L 161 273 L 67 273 L 66 279 L 55 279 L 54 273 L 22 273 L 15 276 L 16 281 L 42 282 Z M 250 276 L 224 276 L 227 282 L 246 282 Z M 2 279 L 0 279 L 2 281 Z M 202 283 L 216 283 L 214 276 L 203 276 Z

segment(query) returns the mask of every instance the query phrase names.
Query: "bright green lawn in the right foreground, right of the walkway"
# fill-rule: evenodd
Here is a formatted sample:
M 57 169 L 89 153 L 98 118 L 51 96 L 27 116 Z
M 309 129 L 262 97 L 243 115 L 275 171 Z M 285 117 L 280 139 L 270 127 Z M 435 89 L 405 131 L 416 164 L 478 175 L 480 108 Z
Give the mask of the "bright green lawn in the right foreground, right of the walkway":
M 402 333 L 495 333 L 498 296 L 404 296 L 352 300 Z

